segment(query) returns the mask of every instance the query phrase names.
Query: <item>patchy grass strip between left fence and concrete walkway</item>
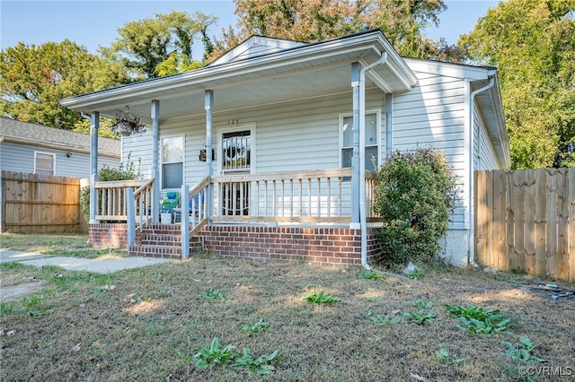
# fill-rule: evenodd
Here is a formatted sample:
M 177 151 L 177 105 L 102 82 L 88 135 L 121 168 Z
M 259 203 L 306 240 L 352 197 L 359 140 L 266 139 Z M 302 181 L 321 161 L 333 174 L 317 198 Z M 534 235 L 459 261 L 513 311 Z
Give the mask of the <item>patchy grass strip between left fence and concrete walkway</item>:
M 0 233 L 0 247 L 13 251 L 37 252 L 44 255 L 99 258 L 128 256 L 124 249 L 93 249 L 84 233 Z

